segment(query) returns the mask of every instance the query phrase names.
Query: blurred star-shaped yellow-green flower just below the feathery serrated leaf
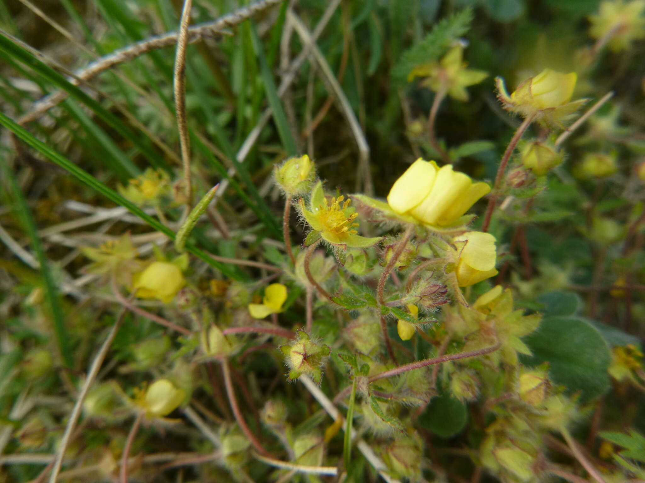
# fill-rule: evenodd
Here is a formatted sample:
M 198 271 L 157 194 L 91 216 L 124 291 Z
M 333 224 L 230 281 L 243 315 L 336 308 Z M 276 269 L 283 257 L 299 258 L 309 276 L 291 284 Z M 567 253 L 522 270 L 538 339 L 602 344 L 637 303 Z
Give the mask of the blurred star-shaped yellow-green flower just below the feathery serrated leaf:
M 428 62 L 415 67 L 408 75 L 408 82 L 415 77 L 424 77 L 421 85 L 435 92 L 448 91 L 448 95 L 457 100 L 468 100 L 466 88 L 479 84 L 488 77 L 482 70 L 466 69 L 463 61 L 464 46 L 460 43 L 446 53 L 441 61 Z

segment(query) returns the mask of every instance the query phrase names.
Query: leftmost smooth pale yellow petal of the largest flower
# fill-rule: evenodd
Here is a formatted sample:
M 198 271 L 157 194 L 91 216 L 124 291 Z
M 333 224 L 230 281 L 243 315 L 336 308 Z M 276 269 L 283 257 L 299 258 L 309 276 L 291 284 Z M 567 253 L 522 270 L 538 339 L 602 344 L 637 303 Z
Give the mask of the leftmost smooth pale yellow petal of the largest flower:
M 437 171 L 439 168 L 434 161 L 419 158 L 413 162 L 392 185 L 388 194 L 390 207 L 396 213 L 403 214 L 421 203 L 432 190 Z

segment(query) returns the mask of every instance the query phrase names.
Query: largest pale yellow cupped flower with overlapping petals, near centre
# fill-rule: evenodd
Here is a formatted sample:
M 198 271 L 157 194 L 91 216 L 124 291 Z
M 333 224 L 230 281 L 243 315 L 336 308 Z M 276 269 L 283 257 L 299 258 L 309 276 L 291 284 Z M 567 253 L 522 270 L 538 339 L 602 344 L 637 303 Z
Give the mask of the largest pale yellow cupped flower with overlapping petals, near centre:
M 426 225 L 448 226 L 463 224 L 459 218 L 489 191 L 488 184 L 473 183 L 450 164 L 439 169 L 434 161 L 419 158 L 392 185 L 388 204 Z

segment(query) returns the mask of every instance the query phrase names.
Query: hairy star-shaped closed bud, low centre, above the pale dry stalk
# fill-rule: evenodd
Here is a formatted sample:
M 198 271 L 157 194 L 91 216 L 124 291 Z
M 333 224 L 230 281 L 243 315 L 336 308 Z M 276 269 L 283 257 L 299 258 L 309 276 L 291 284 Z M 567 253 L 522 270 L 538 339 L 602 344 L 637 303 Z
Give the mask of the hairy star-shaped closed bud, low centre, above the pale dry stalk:
M 316 384 L 320 384 L 323 379 L 324 361 L 332 350 L 327 345 L 312 341 L 304 330 L 298 330 L 297 334 L 291 345 L 280 346 L 280 350 L 286 356 L 285 363 L 290 368 L 289 379 L 297 379 L 306 374 Z

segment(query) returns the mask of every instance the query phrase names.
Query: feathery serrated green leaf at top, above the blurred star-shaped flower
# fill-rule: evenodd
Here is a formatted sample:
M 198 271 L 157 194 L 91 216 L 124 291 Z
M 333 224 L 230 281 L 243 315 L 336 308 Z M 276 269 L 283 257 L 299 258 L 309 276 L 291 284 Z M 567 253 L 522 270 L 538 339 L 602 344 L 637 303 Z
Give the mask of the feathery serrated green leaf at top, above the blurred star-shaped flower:
M 464 8 L 439 22 L 421 42 L 414 44 L 401 55 L 401 60 L 392 69 L 395 81 L 404 82 L 416 66 L 439 59 L 450 44 L 468 32 L 472 20 L 473 10 Z

